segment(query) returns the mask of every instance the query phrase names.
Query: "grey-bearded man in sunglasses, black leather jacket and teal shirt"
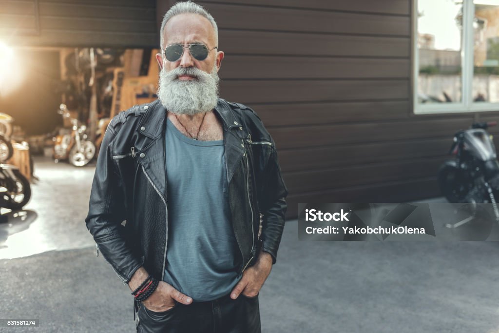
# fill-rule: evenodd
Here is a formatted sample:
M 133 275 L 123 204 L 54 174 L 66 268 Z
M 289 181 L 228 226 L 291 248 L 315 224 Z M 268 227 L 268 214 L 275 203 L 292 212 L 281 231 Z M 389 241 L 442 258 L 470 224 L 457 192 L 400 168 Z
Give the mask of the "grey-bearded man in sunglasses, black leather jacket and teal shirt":
M 161 26 L 158 100 L 110 122 L 85 220 L 134 295 L 138 332 L 260 332 L 287 189 L 249 107 L 218 97 L 213 17 L 179 2 Z

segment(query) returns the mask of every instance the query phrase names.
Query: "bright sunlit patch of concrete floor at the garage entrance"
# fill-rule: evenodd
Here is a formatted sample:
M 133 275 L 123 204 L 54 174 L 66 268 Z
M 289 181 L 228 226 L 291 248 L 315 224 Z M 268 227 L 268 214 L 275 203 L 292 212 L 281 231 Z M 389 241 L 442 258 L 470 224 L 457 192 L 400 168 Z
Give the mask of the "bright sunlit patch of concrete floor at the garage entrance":
M 11 214 L 8 223 L 0 224 L 0 259 L 95 244 L 84 222 L 94 171 L 95 162 L 77 168 L 35 156 L 39 180 L 31 184 L 26 214 Z

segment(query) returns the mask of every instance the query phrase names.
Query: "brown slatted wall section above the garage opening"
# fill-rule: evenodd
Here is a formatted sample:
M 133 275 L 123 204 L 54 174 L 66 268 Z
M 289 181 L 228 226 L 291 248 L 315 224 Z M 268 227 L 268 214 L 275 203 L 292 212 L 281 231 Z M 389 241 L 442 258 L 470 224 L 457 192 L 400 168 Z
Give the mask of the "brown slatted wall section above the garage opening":
M 156 1 L 0 0 L 0 39 L 15 46 L 156 47 Z

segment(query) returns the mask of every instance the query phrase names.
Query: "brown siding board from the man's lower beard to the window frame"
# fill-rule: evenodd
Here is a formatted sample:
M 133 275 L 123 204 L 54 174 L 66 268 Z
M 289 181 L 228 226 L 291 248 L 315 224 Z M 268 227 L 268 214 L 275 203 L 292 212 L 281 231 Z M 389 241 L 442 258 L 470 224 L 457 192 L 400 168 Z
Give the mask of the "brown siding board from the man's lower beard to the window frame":
M 221 91 L 242 103 L 408 98 L 408 80 L 225 80 Z M 295 129 L 293 129 L 295 130 Z

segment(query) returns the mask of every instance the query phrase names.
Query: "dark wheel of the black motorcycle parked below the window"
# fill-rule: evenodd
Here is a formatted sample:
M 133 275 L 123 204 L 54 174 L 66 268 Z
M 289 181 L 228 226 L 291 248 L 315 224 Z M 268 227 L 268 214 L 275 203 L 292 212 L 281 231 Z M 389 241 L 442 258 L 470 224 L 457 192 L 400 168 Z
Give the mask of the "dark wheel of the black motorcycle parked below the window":
M 471 189 L 473 188 L 473 182 L 469 175 L 454 166 L 444 165 L 439 170 L 438 180 L 440 185 L 440 190 L 442 194 L 449 202 L 469 202 Z M 478 195 L 473 193 L 474 196 Z M 475 202 L 479 201 L 480 198 L 476 198 Z

